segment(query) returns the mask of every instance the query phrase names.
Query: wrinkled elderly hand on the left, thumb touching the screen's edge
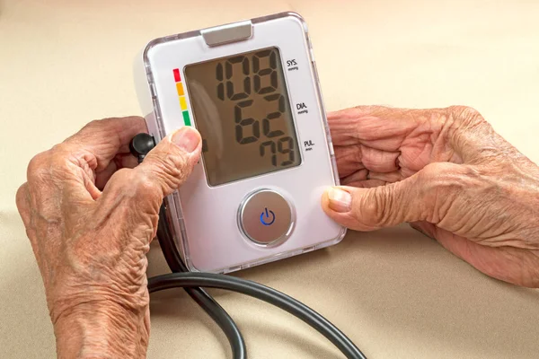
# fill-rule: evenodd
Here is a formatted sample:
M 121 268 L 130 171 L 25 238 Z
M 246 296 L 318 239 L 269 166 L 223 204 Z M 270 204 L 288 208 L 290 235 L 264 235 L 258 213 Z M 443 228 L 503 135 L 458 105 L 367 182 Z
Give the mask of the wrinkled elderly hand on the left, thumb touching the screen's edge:
M 143 118 L 93 121 L 35 156 L 17 192 L 60 358 L 146 357 L 146 252 L 163 197 L 190 174 L 201 141 L 182 127 L 131 169 L 140 132 Z

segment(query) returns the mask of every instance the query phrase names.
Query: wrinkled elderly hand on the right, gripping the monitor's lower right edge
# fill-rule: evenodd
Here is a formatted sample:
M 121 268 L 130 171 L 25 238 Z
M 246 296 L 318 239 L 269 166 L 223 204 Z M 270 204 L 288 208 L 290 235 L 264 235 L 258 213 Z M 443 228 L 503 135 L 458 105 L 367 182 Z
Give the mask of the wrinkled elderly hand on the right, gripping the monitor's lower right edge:
M 539 168 L 477 111 L 328 119 L 343 185 L 323 198 L 331 218 L 358 231 L 408 222 L 489 276 L 539 287 Z

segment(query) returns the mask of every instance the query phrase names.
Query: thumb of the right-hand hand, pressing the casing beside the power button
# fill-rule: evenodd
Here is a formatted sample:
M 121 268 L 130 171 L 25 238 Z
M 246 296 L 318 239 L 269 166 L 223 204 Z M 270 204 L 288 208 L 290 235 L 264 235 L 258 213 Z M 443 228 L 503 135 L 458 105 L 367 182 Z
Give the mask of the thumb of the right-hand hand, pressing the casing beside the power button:
M 455 195 L 453 163 L 431 163 L 406 180 L 376 188 L 334 187 L 323 195 L 323 209 L 335 222 L 373 231 L 405 222 L 437 221 L 439 206 Z

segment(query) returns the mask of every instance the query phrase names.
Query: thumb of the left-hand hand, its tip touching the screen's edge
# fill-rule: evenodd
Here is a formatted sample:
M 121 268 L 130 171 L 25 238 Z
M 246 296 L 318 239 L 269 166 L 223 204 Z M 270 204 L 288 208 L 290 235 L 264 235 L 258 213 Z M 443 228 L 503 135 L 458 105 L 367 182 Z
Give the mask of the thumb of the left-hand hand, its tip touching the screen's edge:
M 140 213 L 158 214 L 163 197 L 178 189 L 199 161 L 201 142 L 189 126 L 164 137 L 137 167 L 112 175 L 100 198 L 103 206 L 124 198 Z

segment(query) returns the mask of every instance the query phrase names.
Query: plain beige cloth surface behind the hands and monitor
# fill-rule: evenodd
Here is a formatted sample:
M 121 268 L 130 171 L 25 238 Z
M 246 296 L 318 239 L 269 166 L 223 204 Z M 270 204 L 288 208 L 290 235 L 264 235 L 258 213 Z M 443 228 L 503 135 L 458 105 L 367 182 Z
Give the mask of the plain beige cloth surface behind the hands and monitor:
M 328 109 L 466 104 L 539 162 L 539 1 L 22 1 L 0 4 L 0 357 L 50 358 L 38 268 L 14 206 L 31 156 L 93 118 L 139 114 L 131 62 L 147 40 L 292 10 L 304 15 Z M 149 274 L 166 268 L 157 247 Z M 406 226 L 240 276 L 307 303 L 369 358 L 536 358 L 539 292 L 475 271 Z M 251 358 L 339 358 L 269 305 L 216 293 Z M 178 291 L 152 298 L 150 358 L 229 357 Z

